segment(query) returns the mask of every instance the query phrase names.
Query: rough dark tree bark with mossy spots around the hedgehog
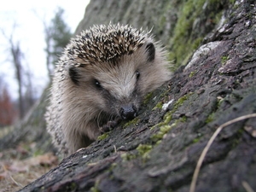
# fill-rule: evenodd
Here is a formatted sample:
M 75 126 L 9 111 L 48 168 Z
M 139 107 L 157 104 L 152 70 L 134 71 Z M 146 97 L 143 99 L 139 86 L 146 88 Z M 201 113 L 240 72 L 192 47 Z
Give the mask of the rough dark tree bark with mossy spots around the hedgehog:
M 216 1 L 213 13 L 221 12 L 223 19 L 218 26 L 216 21 L 202 29 L 211 22 L 212 12 L 205 10 L 210 1 L 129 2 L 92 1 L 78 31 L 108 20 L 130 23 L 129 17 L 134 17 L 134 26 L 154 24 L 153 33 L 170 50 L 183 49 L 174 44 L 175 38 L 183 37 L 188 43 L 184 44 L 192 47 L 183 50 L 182 59 L 170 58 L 177 65 L 187 60 L 188 65 L 179 67 L 168 84 L 145 98 L 137 119 L 102 135 L 20 191 L 189 191 L 197 160 L 218 126 L 256 112 L 254 1 Z M 181 36 L 177 27 L 188 3 L 201 3 L 201 15 L 193 12 L 197 19 Z M 172 12 L 174 4 L 176 12 Z M 157 14 L 165 15 L 162 28 L 155 26 L 160 20 L 154 18 Z M 196 36 L 202 43 L 191 57 Z M 163 103 L 171 100 L 163 109 Z M 255 131 L 255 118 L 224 127 L 203 161 L 196 191 L 248 191 L 242 183 L 256 190 Z

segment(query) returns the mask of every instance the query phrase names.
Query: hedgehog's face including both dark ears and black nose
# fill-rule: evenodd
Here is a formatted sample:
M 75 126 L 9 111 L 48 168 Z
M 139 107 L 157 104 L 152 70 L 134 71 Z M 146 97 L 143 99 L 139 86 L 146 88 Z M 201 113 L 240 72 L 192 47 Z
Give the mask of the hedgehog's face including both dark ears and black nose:
M 95 96 L 99 112 L 133 119 L 137 116 L 143 96 L 152 90 L 148 87 L 151 83 L 147 69 L 154 66 L 154 57 L 154 44 L 143 44 L 133 54 L 124 55 L 114 64 L 105 62 L 71 67 L 69 75 L 73 84 Z

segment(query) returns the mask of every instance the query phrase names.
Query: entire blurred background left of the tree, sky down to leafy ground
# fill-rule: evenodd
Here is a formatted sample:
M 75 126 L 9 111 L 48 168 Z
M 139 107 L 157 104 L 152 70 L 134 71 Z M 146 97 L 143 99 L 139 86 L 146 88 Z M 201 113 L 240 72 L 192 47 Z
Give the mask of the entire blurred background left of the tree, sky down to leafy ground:
M 46 100 L 58 57 L 89 1 L 78 3 L 10 1 L 0 8 L 0 191 L 16 191 L 58 163 L 44 130 L 47 102 L 34 114 L 37 122 L 29 119 Z M 38 149 L 44 143 L 47 149 Z

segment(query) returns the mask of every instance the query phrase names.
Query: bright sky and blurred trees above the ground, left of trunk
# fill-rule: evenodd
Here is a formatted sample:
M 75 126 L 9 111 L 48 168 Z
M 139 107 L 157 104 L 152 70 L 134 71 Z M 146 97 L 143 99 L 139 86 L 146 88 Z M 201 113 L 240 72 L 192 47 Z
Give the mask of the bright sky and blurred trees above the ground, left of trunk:
M 24 3 L 25 6 L 29 4 L 29 2 Z M 8 11 L 7 8 L 2 11 L 2 20 L 5 19 L 4 17 L 9 17 L 9 22 L 2 22 L 0 26 L 0 128 L 19 122 L 40 98 L 49 84 L 58 56 L 61 55 L 62 49 L 84 15 L 87 3 L 85 2 L 79 14 L 74 9 L 73 13 L 66 13 L 61 6 L 55 7 L 51 13 L 49 9 L 38 11 L 31 5 L 31 15 L 42 29 L 42 33 L 33 30 L 34 36 L 38 36 L 36 37 L 38 42 L 32 37 L 31 39 L 28 37 L 29 40 L 26 42 L 27 36 L 22 34 L 30 28 L 21 25 L 19 18 L 13 16 L 17 14 L 13 13 L 14 9 Z M 78 15 L 76 22 L 67 23 L 67 15 L 74 13 Z M 49 15 L 52 15 L 51 18 Z M 26 22 L 29 23 L 30 18 L 26 18 Z M 40 44 L 42 40 L 44 44 Z M 29 41 L 33 41 L 33 44 L 29 44 Z M 27 48 L 26 45 L 30 47 Z M 35 59 L 33 60 L 32 57 Z

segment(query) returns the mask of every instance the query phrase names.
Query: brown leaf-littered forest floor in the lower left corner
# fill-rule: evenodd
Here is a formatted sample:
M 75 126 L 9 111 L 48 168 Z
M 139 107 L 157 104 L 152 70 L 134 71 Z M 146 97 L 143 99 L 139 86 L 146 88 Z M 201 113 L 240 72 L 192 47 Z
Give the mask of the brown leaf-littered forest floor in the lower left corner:
M 1 128 L 0 137 L 13 129 Z M 35 146 L 36 143 L 24 142 L 16 148 L 0 152 L 0 192 L 22 189 L 58 165 L 58 158 L 54 154 L 43 154 Z

